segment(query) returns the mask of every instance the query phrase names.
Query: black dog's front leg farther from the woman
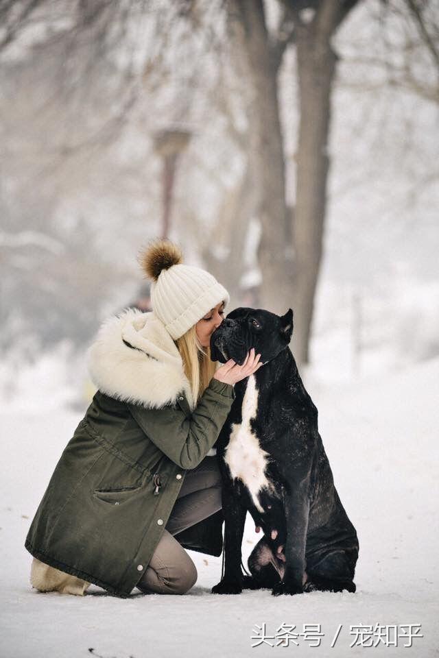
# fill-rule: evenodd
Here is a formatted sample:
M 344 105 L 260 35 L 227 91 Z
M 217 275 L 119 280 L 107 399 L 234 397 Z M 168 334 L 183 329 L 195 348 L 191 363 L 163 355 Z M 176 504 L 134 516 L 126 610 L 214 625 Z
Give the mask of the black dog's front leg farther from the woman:
M 302 491 L 292 491 L 285 496 L 287 541 L 285 543 L 285 574 L 273 589 L 279 594 L 301 594 L 305 574 L 305 546 L 307 541 L 309 498 Z

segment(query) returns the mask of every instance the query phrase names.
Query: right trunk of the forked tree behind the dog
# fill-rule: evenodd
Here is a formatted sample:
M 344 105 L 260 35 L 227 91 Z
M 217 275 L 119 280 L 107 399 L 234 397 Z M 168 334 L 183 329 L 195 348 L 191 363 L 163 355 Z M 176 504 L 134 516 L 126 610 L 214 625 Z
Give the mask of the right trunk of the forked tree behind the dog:
M 339 10 L 340 0 L 322 0 L 310 23 L 303 23 L 299 12 L 295 12 L 300 123 L 293 225 L 296 261 L 293 348 L 298 363 L 309 361 L 314 295 L 322 258 L 331 87 L 336 61 L 331 36 L 337 27 Z

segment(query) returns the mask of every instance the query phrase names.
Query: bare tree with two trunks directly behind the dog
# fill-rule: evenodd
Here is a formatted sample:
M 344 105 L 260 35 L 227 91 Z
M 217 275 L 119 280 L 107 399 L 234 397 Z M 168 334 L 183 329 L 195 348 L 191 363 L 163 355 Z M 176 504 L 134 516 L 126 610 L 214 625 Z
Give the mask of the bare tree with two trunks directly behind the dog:
M 250 157 L 259 191 L 262 225 L 259 265 L 263 303 L 295 310 L 294 344 L 300 362 L 309 360 L 313 300 L 322 257 L 331 124 L 331 90 L 337 56 L 332 38 L 357 0 L 283 0 L 281 19 L 270 34 L 263 0 L 230 1 L 230 25 L 246 52 L 254 102 L 250 113 Z M 285 196 L 283 132 L 278 71 L 283 53 L 296 47 L 300 124 L 296 154 L 296 207 Z M 292 236 L 292 238 L 290 237 Z M 294 253 L 294 263 L 292 260 Z

